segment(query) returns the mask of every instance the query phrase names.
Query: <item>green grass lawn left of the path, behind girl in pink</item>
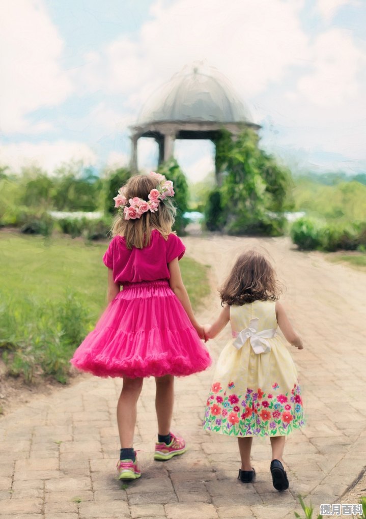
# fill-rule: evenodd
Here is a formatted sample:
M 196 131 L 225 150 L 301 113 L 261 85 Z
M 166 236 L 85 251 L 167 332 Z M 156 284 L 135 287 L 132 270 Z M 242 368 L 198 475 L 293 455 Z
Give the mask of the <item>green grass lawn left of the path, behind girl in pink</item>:
M 12 375 L 66 381 L 69 359 L 105 308 L 107 243 L 0 232 L 0 354 Z M 208 267 L 180 261 L 194 309 Z

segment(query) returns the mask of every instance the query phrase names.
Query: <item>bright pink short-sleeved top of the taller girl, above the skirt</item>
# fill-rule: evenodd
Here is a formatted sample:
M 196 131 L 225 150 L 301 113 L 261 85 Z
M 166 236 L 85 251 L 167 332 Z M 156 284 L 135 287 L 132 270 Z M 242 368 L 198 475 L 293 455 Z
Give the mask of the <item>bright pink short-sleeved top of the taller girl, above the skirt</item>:
M 171 233 L 165 240 L 157 229 L 151 233 L 150 244 L 143 249 L 127 249 L 123 236 L 115 236 L 103 256 L 103 262 L 113 269 L 115 283 L 136 283 L 169 279 L 168 263 L 185 252 L 182 240 Z

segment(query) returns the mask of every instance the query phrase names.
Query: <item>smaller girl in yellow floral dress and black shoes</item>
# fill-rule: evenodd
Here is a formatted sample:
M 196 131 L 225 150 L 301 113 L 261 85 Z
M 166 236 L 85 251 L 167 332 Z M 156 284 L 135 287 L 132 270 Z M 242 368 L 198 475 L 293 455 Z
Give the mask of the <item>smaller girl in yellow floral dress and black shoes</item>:
M 204 428 L 237 436 L 241 458 L 239 476 L 250 483 L 255 470 L 250 461 L 253 436 L 269 436 L 274 487 L 289 487 L 282 455 L 286 436 L 304 425 L 296 367 L 277 334 L 296 348 L 302 339 L 277 301 L 280 292 L 275 271 L 254 250 L 241 254 L 220 290 L 223 310 L 204 327 L 205 338 L 218 335 L 230 321 L 233 338 L 222 350 L 207 400 Z

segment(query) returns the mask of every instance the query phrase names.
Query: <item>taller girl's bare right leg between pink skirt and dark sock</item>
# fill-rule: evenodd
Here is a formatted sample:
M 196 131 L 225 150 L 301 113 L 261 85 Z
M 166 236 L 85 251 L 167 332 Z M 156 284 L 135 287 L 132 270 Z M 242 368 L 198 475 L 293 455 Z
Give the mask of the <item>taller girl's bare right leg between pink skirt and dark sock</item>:
M 155 408 L 158 419 L 158 434 L 166 436 L 170 433 L 170 424 L 173 414 L 174 377 L 172 375 L 155 377 L 155 382 Z

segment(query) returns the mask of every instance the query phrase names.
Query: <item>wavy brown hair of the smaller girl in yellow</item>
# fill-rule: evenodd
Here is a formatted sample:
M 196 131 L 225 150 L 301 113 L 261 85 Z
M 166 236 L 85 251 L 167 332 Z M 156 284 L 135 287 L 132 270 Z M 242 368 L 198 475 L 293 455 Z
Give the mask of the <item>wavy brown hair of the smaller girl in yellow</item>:
M 253 249 L 240 254 L 219 292 L 222 305 L 241 306 L 253 301 L 277 301 L 282 285 L 269 260 Z

